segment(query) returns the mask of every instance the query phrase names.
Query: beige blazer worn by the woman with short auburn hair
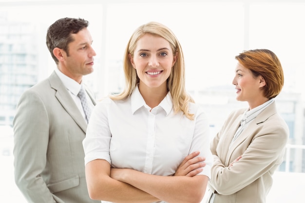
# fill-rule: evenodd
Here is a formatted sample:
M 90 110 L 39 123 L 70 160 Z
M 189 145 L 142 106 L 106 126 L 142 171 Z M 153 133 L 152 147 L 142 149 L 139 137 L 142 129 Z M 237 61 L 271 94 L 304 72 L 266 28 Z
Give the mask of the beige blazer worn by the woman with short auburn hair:
M 289 131 L 275 102 L 250 122 L 229 148 L 244 111 L 233 111 L 211 142 L 214 164 L 207 203 L 213 192 L 213 203 L 265 203 L 272 174 L 283 161 Z M 228 167 L 240 155 L 243 157 Z

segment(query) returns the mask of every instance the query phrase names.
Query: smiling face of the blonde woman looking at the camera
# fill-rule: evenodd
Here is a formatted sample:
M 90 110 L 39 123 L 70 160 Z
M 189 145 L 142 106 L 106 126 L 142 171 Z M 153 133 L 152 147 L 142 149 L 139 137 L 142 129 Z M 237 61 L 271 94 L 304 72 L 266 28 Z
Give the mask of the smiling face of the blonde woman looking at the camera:
M 129 58 L 140 79 L 140 86 L 167 88 L 166 81 L 177 57 L 172 54 L 166 39 L 145 34 L 137 41 L 133 56 L 129 55 Z

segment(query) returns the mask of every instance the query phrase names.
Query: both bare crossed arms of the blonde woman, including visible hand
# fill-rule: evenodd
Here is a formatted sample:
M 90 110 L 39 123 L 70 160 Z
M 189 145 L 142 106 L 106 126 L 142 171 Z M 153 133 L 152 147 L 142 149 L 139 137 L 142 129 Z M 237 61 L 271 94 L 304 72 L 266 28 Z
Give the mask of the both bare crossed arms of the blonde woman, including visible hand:
M 127 168 L 110 168 L 105 160 L 86 165 L 86 179 L 92 199 L 117 203 L 200 202 L 208 177 L 198 175 L 205 163 L 199 152 L 187 156 L 174 176 L 157 176 Z

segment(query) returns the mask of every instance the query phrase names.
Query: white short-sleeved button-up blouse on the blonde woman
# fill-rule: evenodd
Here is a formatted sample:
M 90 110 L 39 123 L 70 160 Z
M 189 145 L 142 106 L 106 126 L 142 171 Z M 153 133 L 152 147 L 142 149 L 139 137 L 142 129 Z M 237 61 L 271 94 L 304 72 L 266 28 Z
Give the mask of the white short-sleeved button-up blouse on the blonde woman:
M 105 98 L 95 105 L 83 140 L 85 164 L 104 159 L 112 167 L 169 176 L 191 152 L 200 151 L 210 179 L 213 159 L 209 123 L 202 108 L 190 103 L 194 120 L 174 113 L 170 93 L 151 111 L 136 87 L 126 100 Z

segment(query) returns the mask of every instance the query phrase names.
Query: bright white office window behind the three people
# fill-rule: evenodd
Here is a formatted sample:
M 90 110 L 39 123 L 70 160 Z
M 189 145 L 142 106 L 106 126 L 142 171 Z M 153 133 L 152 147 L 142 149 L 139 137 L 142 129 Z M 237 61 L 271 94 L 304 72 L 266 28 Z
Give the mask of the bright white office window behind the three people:
M 236 66 L 234 56 L 243 50 L 257 48 L 270 49 L 279 56 L 284 68 L 285 85 L 276 100 L 289 126 L 290 138 L 285 160 L 278 171 L 283 171 L 285 177 L 289 174 L 287 183 L 302 178 L 305 180 L 302 142 L 305 140 L 305 31 L 302 26 L 305 3 L 301 0 L 24 2 L 0 1 L 1 126 L 12 125 L 21 93 L 56 68 L 47 50 L 45 35 L 48 26 L 58 18 L 80 17 L 90 22 L 89 30 L 96 51 L 95 71 L 84 79 L 97 98 L 122 91 L 125 84 L 122 58 L 129 37 L 139 25 L 159 21 L 171 28 L 181 43 L 186 63 L 187 90 L 206 110 L 211 137 L 217 133 L 230 111 L 247 106 L 235 100 L 235 90 L 231 84 Z M 11 138 L 5 140 L 12 141 Z M 0 191 L 11 188 L 10 191 L 16 195 L 0 194 L 3 197 L 10 195 L 12 202 L 25 203 L 13 181 L 12 154 L 7 148 L 1 154 L 1 163 L 8 167 L 0 169 L 0 179 L 5 183 L 2 184 L 5 188 L 1 190 L 0 187 Z M 284 194 L 277 186 L 282 185 L 277 184 L 277 180 L 285 179 L 278 174 L 282 175 L 277 173 L 275 176 L 279 179 L 275 179 L 268 203 L 287 202 L 283 197 L 277 199 L 277 194 Z M 298 184 L 289 187 L 304 186 Z M 291 193 L 288 202 L 293 202 L 293 198 L 297 198 L 295 193 Z

